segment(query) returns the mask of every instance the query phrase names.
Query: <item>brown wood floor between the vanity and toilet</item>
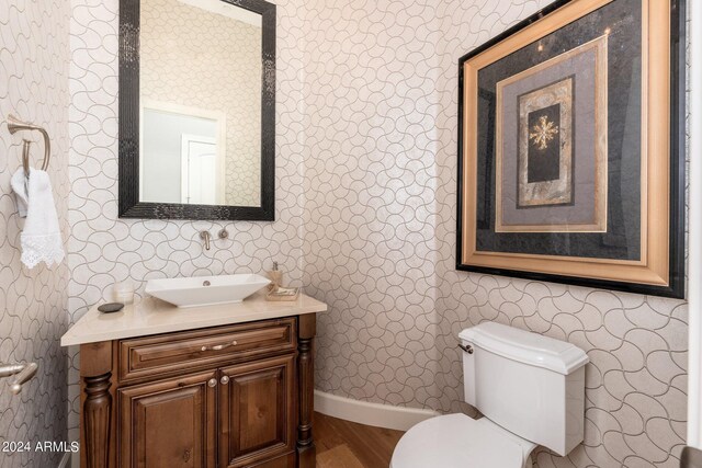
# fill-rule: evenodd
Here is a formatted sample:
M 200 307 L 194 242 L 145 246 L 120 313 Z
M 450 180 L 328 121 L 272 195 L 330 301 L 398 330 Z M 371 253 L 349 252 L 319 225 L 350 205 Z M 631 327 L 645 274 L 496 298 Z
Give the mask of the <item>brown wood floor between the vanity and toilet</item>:
M 317 468 L 387 468 L 404 432 L 315 412 Z

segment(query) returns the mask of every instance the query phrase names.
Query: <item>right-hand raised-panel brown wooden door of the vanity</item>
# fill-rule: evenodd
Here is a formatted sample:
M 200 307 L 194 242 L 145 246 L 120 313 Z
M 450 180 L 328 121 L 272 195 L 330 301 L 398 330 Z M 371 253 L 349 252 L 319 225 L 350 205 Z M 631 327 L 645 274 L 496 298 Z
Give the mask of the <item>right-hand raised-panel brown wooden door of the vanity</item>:
M 294 354 L 220 369 L 220 468 L 253 466 L 295 449 L 294 372 Z

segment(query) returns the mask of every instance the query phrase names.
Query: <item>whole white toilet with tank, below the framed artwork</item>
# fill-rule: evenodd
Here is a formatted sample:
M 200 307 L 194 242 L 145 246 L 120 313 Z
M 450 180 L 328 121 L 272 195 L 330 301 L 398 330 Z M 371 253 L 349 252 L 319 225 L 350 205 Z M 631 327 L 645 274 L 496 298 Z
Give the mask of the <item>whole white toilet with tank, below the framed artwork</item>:
M 494 322 L 458 336 L 465 401 L 484 416 L 446 414 L 415 425 L 390 468 L 530 468 L 536 446 L 565 456 L 582 442 L 582 350 Z

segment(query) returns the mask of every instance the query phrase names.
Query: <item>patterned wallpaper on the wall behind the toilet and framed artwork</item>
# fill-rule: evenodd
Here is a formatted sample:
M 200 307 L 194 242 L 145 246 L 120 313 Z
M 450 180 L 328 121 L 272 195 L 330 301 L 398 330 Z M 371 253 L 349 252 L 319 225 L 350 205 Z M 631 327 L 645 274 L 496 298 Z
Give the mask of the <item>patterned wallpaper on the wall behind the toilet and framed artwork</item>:
M 456 272 L 457 59 L 546 1 L 306 2 L 306 292 L 317 386 L 472 412 L 460 330 L 485 320 L 587 351 L 586 441 L 539 467 L 676 467 L 684 301 Z M 312 21 L 312 19 L 319 19 Z

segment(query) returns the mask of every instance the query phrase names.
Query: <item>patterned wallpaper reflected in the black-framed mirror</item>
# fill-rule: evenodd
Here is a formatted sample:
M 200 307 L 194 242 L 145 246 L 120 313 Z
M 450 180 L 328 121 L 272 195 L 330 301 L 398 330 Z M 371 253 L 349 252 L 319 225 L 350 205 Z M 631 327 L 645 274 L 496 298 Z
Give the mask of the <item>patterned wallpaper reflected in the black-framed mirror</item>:
M 226 203 L 260 206 L 261 30 L 179 0 L 140 14 L 141 95 L 225 113 Z

